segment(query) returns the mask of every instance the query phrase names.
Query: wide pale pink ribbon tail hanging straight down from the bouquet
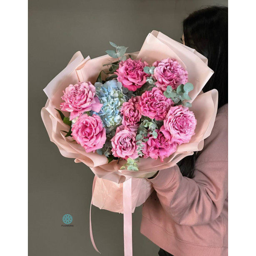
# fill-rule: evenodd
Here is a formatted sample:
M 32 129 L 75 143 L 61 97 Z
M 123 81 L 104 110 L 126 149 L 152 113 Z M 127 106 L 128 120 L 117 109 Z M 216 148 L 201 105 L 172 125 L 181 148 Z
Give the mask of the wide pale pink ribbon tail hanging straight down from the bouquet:
M 132 256 L 132 179 L 123 183 L 124 256 Z

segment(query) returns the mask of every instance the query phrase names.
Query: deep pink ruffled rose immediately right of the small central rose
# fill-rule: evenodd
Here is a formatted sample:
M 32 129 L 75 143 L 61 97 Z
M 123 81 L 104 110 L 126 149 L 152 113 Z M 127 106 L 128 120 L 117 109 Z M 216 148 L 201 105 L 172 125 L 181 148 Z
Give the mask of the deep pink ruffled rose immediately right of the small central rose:
M 146 117 L 163 120 L 173 105 L 174 102 L 165 97 L 162 90 L 153 87 L 152 91 L 146 91 L 142 94 L 138 108 L 139 112 Z

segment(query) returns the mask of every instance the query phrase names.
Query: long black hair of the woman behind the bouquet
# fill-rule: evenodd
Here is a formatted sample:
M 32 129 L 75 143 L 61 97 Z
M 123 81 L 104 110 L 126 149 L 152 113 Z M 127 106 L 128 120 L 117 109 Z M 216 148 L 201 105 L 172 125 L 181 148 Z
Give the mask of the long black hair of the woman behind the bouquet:
M 203 88 L 204 92 L 217 89 L 218 108 L 228 103 L 228 7 L 211 6 L 191 13 L 183 21 L 185 44 L 208 59 L 214 71 Z M 177 165 L 183 176 L 193 178 L 196 152 Z

